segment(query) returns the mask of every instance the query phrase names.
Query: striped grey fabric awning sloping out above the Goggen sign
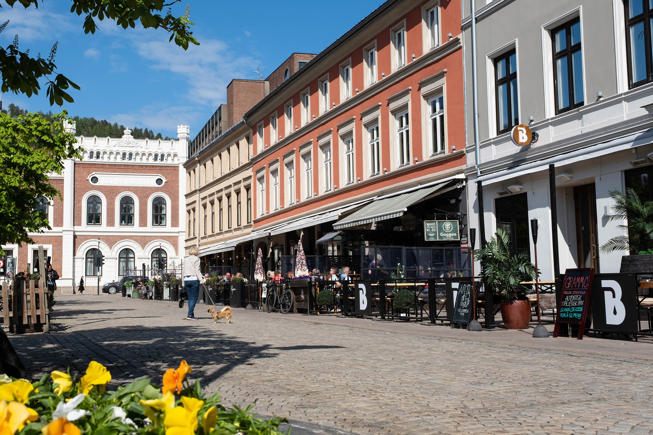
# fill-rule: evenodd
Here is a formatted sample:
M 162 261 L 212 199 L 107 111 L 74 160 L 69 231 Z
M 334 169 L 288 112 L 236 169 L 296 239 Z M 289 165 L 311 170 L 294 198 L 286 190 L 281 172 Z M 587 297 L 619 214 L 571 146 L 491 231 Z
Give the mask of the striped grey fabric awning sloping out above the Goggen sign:
M 407 207 L 437 192 L 441 188 L 449 185 L 449 183 L 451 183 L 451 180 L 395 196 L 381 196 L 362 207 L 362 209 L 345 217 L 343 220 L 339 220 L 334 224 L 333 228 L 334 230 L 342 230 L 351 226 L 400 217 L 404 215 Z

